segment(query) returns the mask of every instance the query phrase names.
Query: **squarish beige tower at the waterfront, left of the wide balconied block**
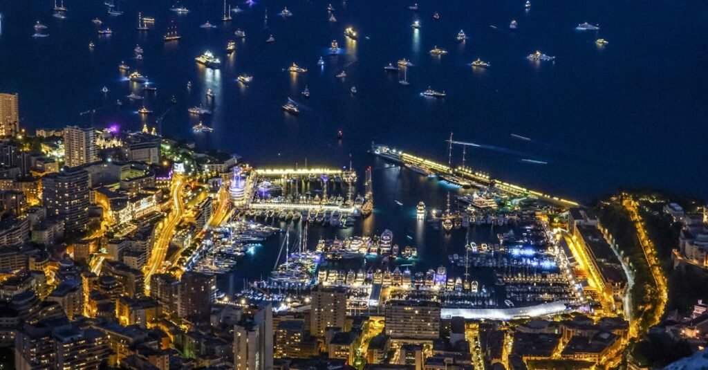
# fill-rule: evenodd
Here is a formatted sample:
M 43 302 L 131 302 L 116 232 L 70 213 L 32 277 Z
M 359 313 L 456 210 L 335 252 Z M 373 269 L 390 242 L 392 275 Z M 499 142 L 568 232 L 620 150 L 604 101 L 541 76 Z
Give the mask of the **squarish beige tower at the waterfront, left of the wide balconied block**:
M 339 288 L 318 288 L 312 291 L 310 334 L 324 337 L 327 327 L 344 330 L 347 315 L 346 291 Z

